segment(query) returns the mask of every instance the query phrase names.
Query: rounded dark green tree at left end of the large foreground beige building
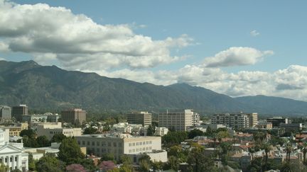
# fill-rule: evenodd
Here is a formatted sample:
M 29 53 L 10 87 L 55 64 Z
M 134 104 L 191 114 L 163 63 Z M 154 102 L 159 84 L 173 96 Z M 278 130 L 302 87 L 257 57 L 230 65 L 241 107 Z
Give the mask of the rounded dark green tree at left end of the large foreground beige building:
M 66 164 L 77 164 L 85 155 L 82 154 L 79 144 L 75 138 L 68 137 L 63 139 L 60 144 L 58 158 Z

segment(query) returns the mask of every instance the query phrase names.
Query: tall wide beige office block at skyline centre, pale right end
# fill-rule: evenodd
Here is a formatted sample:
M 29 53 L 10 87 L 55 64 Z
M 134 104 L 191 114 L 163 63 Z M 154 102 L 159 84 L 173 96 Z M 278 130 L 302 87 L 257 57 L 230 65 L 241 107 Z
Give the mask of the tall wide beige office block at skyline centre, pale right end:
M 186 131 L 188 127 L 193 126 L 192 122 L 193 110 L 186 109 L 177 112 L 159 113 L 159 127 L 167 127 L 176 131 Z

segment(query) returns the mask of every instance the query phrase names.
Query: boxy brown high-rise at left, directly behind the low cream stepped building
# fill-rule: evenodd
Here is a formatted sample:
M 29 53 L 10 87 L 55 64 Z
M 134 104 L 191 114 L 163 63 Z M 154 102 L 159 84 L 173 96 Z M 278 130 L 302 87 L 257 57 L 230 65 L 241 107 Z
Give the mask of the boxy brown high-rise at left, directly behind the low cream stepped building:
M 82 109 L 72 109 L 62 111 L 61 115 L 63 122 L 81 124 L 86 120 L 86 112 Z

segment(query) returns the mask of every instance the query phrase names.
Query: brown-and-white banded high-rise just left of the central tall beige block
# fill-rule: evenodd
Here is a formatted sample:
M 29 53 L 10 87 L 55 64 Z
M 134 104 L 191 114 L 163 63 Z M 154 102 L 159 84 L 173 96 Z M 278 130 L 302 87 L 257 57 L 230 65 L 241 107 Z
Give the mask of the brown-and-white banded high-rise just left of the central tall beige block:
M 131 112 L 126 117 L 129 124 L 151 125 L 151 113 L 148 112 Z

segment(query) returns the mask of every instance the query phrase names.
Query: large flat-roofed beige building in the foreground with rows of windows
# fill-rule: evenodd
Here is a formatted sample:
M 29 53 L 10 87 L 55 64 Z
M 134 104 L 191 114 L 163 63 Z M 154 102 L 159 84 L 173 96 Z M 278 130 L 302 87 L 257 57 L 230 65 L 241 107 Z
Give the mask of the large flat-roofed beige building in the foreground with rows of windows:
M 161 150 L 161 137 L 134 137 L 130 134 L 87 134 L 75 137 L 80 147 L 96 156 L 112 153 L 119 160 L 123 154 L 140 154 Z

